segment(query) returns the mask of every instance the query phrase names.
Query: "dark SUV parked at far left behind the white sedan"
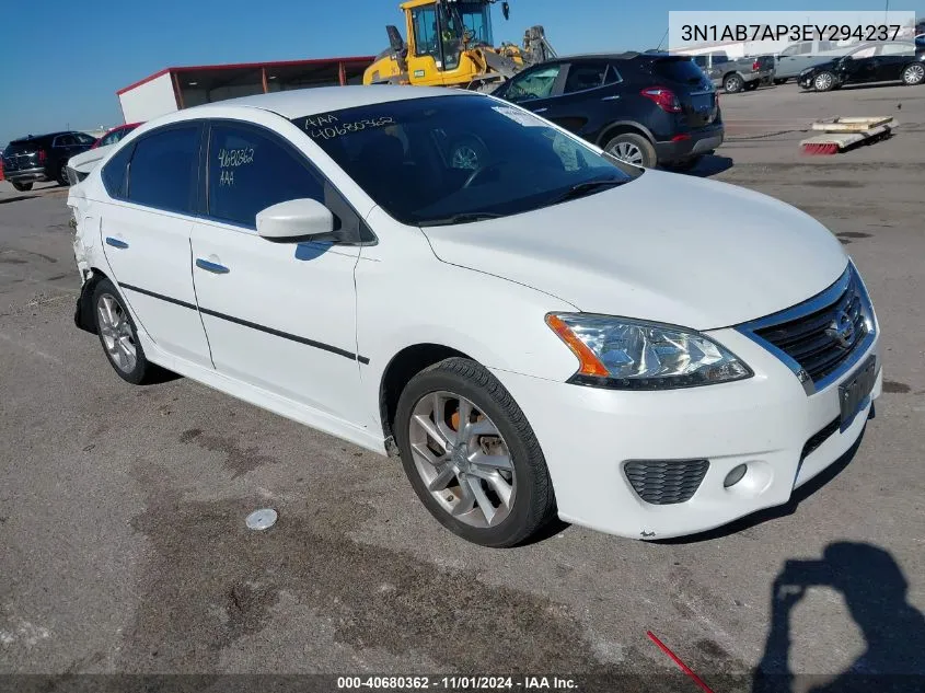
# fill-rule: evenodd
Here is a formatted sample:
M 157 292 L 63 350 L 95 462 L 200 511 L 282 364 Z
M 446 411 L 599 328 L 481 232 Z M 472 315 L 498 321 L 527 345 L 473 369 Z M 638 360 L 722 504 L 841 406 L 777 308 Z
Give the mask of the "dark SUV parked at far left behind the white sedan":
M 68 159 L 86 151 L 95 141 L 85 132 L 72 130 L 13 140 L 3 150 L 3 175 L 18 190 L 30 190 L 33 183 L 43 181 L 67 185 Z

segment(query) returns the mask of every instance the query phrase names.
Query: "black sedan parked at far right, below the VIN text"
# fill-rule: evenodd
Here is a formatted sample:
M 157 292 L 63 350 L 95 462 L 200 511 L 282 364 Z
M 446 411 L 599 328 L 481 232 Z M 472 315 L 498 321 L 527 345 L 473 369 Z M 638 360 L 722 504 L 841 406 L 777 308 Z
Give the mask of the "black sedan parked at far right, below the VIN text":
M 797 82 L 805 90 L 828 92 L 843 84 L 902 80 L 925 82 L 925 47 L 912 42 L 866 43 L 828 62 L 800 72 Z

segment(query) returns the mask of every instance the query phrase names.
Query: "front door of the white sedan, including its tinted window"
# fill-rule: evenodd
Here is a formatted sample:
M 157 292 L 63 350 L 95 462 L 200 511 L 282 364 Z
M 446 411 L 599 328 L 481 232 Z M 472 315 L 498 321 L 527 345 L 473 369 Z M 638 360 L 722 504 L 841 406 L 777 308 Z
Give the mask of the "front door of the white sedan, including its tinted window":
M 289 142 L 241 123 L 211 126 L 208 210 L 193 230 L 193 277 L 216 370 L 327 415 L 357 420 L 358 245 L 277 243 L 258 211 L 289 199 L 357 224 Z

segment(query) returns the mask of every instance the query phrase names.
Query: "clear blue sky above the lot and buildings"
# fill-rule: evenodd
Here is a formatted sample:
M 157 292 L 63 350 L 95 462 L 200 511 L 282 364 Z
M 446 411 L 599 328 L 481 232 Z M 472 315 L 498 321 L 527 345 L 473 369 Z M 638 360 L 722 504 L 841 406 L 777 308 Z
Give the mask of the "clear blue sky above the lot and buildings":
M 742 10 L 742 0 L 509 0 L 495 41 L 533 24 L 559 54 L 659 45 L 670 10 Z M 771 10 L 886 9 L 889 0 L 775 0 Z M 404 31 L 398 0 L 3 0 L 0 145 L 26 134 L 122 123 L 116 91 L 165 67 L 375 55 L 385 25 Z M 925 0 L 891 10 L 925 15 Z

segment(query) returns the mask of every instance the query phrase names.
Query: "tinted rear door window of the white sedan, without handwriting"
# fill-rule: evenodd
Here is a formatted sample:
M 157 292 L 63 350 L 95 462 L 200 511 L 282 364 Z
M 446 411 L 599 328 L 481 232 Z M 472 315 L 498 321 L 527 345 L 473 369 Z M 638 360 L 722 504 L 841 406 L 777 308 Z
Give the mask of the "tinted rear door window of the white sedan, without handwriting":
M 128 200 L 189 212 L 198 163 L 198 125 L 172 127 L 138 140 L 128 170 Z

